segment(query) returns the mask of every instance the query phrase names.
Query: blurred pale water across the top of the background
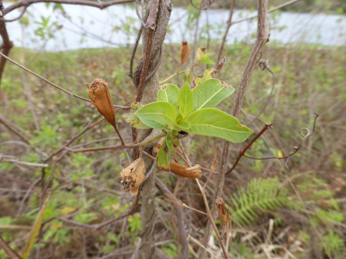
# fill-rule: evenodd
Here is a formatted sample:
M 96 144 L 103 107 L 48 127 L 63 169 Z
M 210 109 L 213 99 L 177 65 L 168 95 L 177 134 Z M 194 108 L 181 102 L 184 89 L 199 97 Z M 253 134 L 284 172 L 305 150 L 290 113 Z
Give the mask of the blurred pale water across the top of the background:
M 4 3 L 9 6 L 10 3 Z M 53 11 L 45 3 L 36 3 L 28 7 L 25 14 L 29 18 L 29 26 L 21 26 L 19 21 L 7 23 L 9 37 L 16 46 L 51 51 L 78 48 L 114 47 L 133 44 L 140 26 L 134 7 L 112 6 L 104 10 L 94 7 L 63 5 L 66 11 L 64 17 L 59 10 Z M 244 10 L 235 10 L 233 21 L 253 16 Z M 6 19 L 15 18 L 19 11 L 15 10 L 5 16 Z M 199 37 L 207 37 L 206 24 L 208 20 L 210 37 L 221 41 L 228 19 L 228 10 L 202 11 L 199 28 Z M 42 39 L 35 35 L 39 27 L 36 22 L 48 18 L 48 25 L 57 22 L 61 30 L 54 32 L 54 39 Z M 69 17 L 69 18 L 67 18 Z M 181 42 L 193 40 L 194 25 L 188 23 L 188 12 L 182 8 L 173 8 L 170 19 L 170 32 L 167 33 L 166 42 Z M 270 14 L 270 40 L 283 44 L 290 42 L 311 42 L 329 46 L 346 46 L 346 18 L 341 15 L 285 13 Z M 54 28 L 54 27 L 53 27 Z M 227 42 L 253 42 L 256 32 L 256 20 L 236 23 L 231 26 Z

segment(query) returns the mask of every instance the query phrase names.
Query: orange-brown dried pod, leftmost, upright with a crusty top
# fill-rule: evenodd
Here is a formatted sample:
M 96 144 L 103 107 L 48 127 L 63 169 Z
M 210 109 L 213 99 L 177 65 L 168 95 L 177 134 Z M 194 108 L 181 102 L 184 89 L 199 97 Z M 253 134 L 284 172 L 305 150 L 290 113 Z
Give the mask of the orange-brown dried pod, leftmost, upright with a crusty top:
M 111 125 L 116 125 L 113 102 L 110 97 L 108 84 L 102 78 L 93 80 L 88 87 L 88 95 L 93 105 L 96 106 Z

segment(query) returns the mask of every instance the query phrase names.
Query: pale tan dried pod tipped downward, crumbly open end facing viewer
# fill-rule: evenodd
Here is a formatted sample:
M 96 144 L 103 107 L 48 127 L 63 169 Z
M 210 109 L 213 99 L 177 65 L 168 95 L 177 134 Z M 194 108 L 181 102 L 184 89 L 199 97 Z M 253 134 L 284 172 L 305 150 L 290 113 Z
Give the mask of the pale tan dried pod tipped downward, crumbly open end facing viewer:
M 122 188 L 125 191 L 130 189 L 130 193 L 132 195 L 137 195 L 138 186 L 143 182 L 145 178 L 144 174 L 144 160 L 142 158 L 138 158 L 119 173 L 119 179 L 120 183 L 122 183 Z

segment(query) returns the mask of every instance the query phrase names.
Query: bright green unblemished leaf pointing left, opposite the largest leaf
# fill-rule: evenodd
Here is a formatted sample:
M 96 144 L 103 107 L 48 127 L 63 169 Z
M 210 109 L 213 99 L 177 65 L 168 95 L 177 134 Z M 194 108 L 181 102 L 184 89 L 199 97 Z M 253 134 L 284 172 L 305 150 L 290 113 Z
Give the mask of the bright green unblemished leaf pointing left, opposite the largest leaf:
M 177 111 L 170 103 L 154 102 L 144 105 L 134 114 L 145 125 L 157 130 L 164 130 L 166 128 L 174 128 Z

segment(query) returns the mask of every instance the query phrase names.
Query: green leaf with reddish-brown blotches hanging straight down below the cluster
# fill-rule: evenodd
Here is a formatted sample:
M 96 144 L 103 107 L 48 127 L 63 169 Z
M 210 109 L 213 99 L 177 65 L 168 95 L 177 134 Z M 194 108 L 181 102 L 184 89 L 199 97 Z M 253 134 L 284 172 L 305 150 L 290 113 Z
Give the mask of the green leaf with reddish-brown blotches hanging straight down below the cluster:
M 165 141 L 161 144 L 160 150 L 157 153 L 156 163 L 157 171 L 171 171 L 170 169 L 170 155 L 175 147 L 179 147 L 179 140 L 171 133 L 168 133 Z

